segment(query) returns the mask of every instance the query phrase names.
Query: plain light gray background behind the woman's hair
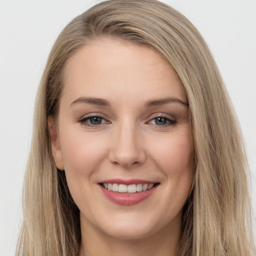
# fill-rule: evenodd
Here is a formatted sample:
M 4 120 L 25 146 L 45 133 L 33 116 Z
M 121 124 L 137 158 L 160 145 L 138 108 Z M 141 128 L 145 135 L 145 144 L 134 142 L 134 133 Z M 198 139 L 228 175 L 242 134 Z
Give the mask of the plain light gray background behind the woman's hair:
M 96 2 L 0 0 L 0 256 L 15 250 L 33 104 L 46 57 L 61 29 Z M 256 0 L 164 2 L 190 19 L 216 59 L 244 134 L 254 205 Z

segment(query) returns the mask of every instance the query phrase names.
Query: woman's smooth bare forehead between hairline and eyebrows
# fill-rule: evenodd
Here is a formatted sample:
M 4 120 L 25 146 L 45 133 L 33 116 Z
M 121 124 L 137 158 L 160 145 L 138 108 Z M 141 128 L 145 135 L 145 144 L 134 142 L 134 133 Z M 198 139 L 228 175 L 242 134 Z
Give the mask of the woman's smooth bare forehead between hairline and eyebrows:
M 166 94 L 187 101 L 174 69 L 146 45 L 104 39 L 83 46 L 65 65 L 62 95 L 111 100 L 114 95 L 146 99 Z

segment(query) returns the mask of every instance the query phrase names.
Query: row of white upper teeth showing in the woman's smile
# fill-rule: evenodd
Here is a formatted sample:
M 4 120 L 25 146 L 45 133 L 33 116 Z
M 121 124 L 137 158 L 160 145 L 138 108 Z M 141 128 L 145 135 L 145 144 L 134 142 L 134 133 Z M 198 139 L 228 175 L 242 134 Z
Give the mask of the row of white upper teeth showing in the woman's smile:
M 135 192 L 141 192 L 151 189 L 154 186 L 154 183 L 150 184 L 117 184 L 117 183 L 103 183 L 103 187 L 107 190 L 112 190 L 114 192 L 119 193 L 135 193 Z

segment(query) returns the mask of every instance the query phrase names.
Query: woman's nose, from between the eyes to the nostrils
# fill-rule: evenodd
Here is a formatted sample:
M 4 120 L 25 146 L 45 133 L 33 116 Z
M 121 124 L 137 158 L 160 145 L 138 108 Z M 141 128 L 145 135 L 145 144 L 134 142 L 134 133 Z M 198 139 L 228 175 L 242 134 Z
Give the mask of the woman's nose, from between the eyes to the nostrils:
M 109 160 L 124 168 L 132 168 L 145 161 L 142 138 L 135 124 L 117 125 L 111 140 Z

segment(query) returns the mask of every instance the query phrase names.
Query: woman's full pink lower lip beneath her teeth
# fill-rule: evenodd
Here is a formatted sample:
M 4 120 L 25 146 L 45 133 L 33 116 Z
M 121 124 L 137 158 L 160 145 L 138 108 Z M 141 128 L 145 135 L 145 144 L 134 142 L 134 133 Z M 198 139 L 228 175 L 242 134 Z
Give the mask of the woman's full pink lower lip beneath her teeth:
M 111 190 L 107 190 L 99 185 L 103 194 L 112 202 L 122 205 L 133 205 L 139 203 L 149 197 L 156 189 L 158 185 L 155 185 L 149 190 L 136 192 L 136 193 L 119 193 Z

